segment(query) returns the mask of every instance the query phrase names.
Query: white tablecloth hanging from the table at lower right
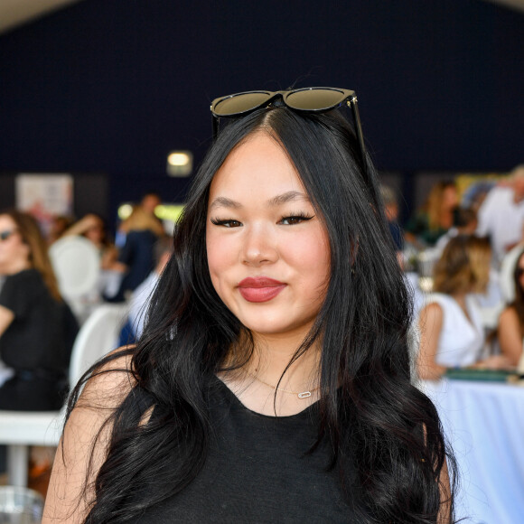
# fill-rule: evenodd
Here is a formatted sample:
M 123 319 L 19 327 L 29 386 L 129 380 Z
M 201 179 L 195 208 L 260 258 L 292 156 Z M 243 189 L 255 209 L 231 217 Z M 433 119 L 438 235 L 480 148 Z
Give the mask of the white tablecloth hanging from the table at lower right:
M 435 402 L 460 473 L 456 517 L 524 522 L 524 388 L 443 379 L 421 387 Z

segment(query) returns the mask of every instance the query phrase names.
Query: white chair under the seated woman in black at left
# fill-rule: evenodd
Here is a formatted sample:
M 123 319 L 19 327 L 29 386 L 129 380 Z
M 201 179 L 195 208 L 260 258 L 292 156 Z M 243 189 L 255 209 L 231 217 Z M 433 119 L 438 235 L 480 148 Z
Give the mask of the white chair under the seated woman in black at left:
M 71 352 L 71 388 L 89 366 L 114 350 L 123 325 L 127 304 L 103 304 L 81 327 Z M 29 446 L 59 443 L 65 407 L 61 411 L 0 411 L 0 444 L 7 445 L 8 483 L 27 485 Z

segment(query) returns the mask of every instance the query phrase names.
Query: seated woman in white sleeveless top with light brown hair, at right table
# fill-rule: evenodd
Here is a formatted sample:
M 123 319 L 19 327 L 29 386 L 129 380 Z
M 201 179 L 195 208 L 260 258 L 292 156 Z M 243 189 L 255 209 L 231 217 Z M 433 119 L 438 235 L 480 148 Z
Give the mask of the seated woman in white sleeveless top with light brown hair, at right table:
M 473 294 L 486 291 L 490 262 L 487 239 L 459 235 L 444 248 L 435 265 L 435 293 L 419 315 L 419 379 L 440 379 L 449 368 L 508 366 L 500 356 L 481 361 L 486 339 Z

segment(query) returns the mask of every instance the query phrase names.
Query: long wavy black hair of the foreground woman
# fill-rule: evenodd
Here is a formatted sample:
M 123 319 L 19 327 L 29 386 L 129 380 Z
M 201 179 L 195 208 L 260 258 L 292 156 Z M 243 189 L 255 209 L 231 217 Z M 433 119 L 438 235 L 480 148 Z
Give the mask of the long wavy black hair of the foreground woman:
M 363 523 L 436 522 L 444 502 L 451 522 L 453 491 L 440 485 L 444 438 L 435 407 L 410 381 L 411 305 L 373 166 L 368 159 L 365 179 L 351 126 L 337 112 L 299 115 L 278 107 L 259 109 L 222 130 L 192 183 L 144 334 L 135 348 L 102 362 L 131 355 L 136 383 L 108 418 L 108 458 L 98 472 L 86 522 L 124 522 L 139 515 L 182 491 L 206 460 L 209 385 L 224 370 L 226 357 L 231 367 L 229 352 L 240 351 L 239 337 L 250 340 L 211 284 L 208 195 L 228 154 L 255 132 L 272 136 L 295 164 L 330 240 L 327 294 L 295 354 L 314 341 L 322 345 L 318 439 L 304 452 L 315 453 L 323 441 L 331 444 L 332 462 L 326 466 L 337 468 L 348 501 L 355 497 L 349 477 L 356 469 Z M 233 355 L 237 366 L 249 359 L 252 343 L 241 351 Z M 71 396 L 70 409 L 79 392 L 80 387 Z M 154 415 L 141 424 L 152 408 Z M 154 490 L 145 495 L 148 484 Z M 443 501 L 442 492 L 449 500 Z M 444 520 L 441 513 L 439 521 Z

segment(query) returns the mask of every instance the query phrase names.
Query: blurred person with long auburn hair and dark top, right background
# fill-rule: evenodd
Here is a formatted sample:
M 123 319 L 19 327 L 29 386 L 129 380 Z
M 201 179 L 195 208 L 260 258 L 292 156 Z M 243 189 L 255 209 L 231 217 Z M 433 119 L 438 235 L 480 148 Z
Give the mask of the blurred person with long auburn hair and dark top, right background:
M 453 226 L 454 209 L 459 203 L 453 181 L 437 182 L 427 196 L 424 206 L 407 222 L 404 236 L 420 247 L 433 247 Z

